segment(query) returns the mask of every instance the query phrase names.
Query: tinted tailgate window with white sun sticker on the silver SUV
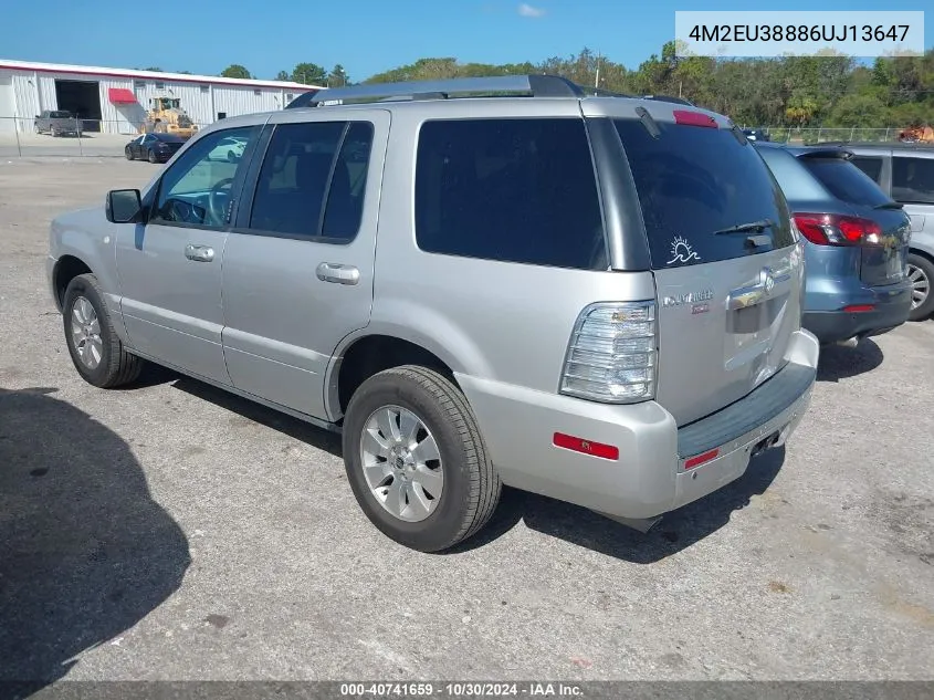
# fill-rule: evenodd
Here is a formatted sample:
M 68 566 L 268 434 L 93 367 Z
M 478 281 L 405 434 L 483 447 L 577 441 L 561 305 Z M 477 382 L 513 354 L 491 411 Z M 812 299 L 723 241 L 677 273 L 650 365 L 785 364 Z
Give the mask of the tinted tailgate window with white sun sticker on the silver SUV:
M 775 248 L 795 242 L 788 206 L 768 167 L 727 129 L 616 121 L 626 148 L 655 269 L 748 255 L 743 233 L 716 231 L 768 219 Z M 763 250 L 763 249 L 757 249 Z

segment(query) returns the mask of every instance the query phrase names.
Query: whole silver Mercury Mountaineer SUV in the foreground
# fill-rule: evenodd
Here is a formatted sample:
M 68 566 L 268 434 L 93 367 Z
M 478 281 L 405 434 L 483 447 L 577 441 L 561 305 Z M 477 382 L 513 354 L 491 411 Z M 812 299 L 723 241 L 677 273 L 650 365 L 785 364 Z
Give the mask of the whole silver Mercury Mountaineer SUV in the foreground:
M 644 531 L 784 443 L 819 352 L 742 132 L 555 76 L 224 119 L 56 219 L 48 270 L 88 383 L 148 359 L 340 430 L 364 512 L 421 551 L 502 484 Z

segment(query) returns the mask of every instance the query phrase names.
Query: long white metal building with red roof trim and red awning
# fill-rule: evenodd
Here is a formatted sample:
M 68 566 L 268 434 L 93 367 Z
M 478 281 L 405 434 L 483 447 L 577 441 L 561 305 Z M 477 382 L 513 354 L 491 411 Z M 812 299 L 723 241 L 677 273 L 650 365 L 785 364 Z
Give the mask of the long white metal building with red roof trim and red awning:
M 151 97 L 179 100 L 191 121 L 282 109 L 313 85 L 0 59 L 0 133 L 31 132 L 43 109 L 66 109 L 85 130 L 135 134 Z M 13 117 L 13 118 L 11 118 Z

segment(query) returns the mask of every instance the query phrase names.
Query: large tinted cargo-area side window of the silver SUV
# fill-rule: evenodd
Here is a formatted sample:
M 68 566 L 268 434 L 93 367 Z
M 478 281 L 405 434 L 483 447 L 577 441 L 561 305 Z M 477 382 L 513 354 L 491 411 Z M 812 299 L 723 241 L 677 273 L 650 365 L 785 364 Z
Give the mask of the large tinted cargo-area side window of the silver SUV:
M 416 169 L 416 239 L 435 253 L 607 269 L 584 121 L 426 122 Z

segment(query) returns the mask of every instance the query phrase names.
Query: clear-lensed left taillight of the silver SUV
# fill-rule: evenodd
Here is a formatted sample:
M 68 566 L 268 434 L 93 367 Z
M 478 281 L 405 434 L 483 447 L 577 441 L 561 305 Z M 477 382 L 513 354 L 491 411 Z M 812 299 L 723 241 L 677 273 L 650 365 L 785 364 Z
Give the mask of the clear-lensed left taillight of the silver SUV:
M 655 395 L 655 302 L 598 303 L 577 318 L 560 393 L 629 404 Z

